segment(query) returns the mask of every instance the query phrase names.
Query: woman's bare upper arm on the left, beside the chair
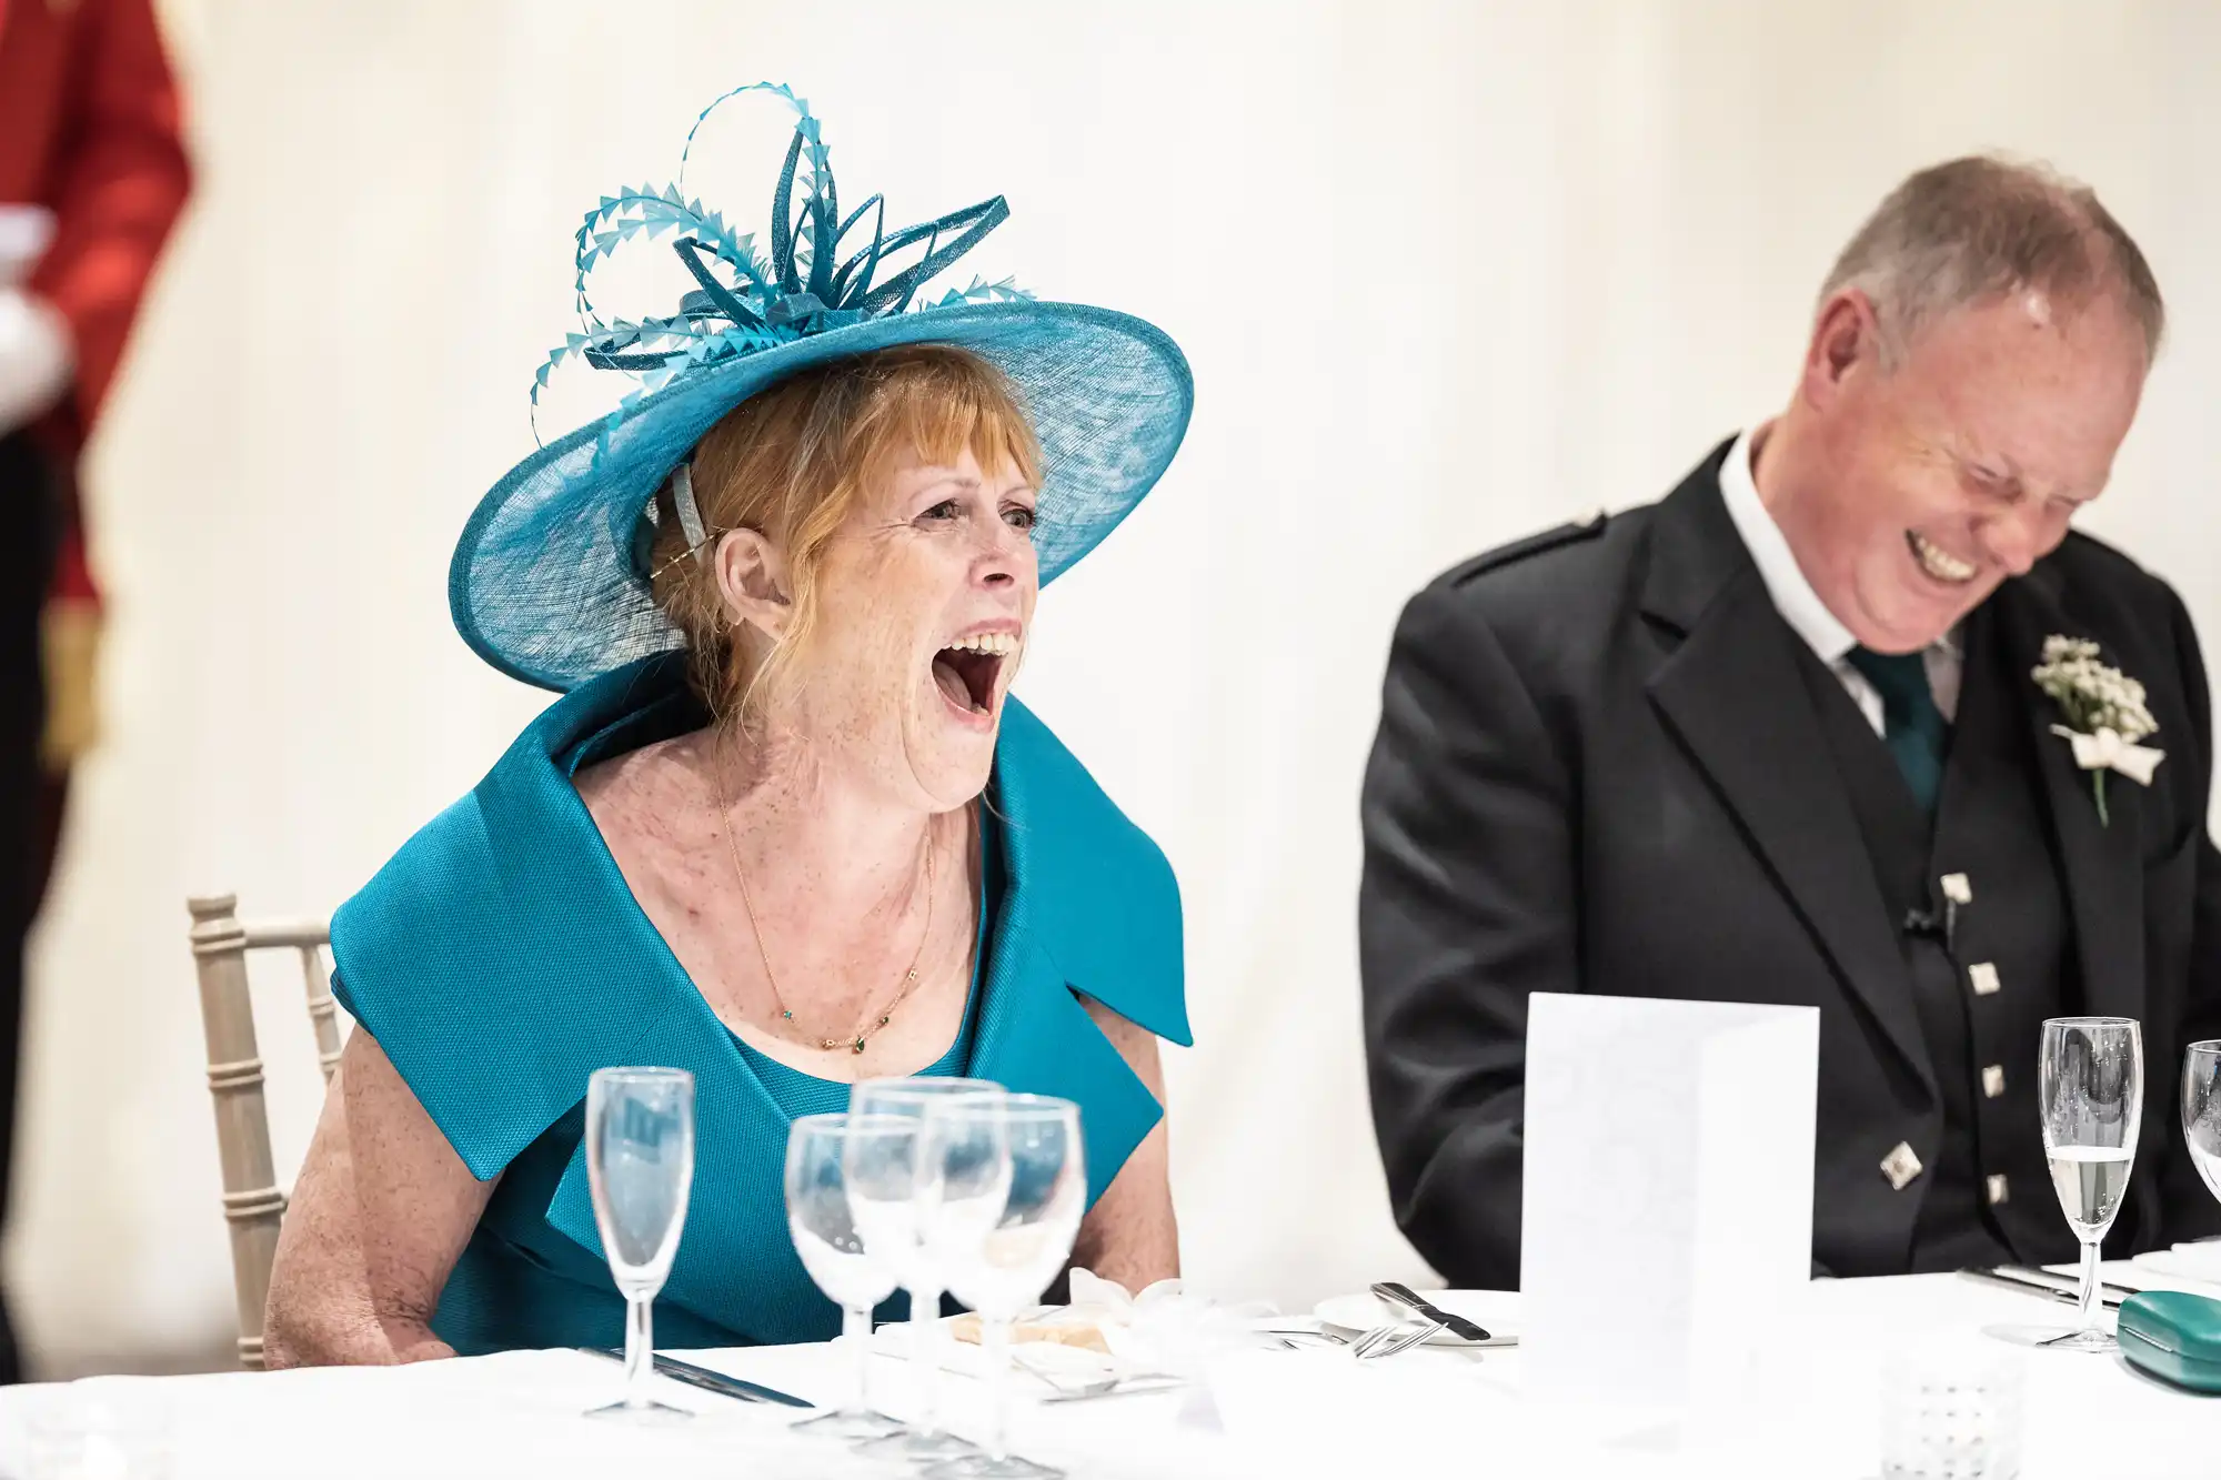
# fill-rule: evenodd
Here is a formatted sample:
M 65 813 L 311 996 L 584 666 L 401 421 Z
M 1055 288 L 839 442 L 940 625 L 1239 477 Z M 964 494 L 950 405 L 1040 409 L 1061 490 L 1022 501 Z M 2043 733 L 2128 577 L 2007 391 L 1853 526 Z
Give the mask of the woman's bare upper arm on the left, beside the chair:
M 378 1040 L 358 1029 L 315 1124 L 278 1236 L 271 1367 L 422 1362 L 446 1276 L 493 1182 L 480 1182 Z

